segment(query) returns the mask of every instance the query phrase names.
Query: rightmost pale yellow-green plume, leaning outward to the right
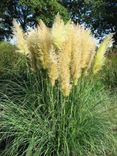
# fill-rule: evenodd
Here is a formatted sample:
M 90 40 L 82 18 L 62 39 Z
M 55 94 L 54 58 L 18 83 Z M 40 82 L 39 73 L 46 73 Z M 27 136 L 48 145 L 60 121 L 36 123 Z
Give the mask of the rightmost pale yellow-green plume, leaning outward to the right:
M 96 74 L 98 71 L 101 70 L 102 66 L 105 63 L 105 53 L 108 49 L 109 45 L 113 42 L 112 40 L 113 34 L 109 34 L 100 44 L 100 47 L 97 50 L 95 56 L 95 62 L 93 66 L 93 73 Z

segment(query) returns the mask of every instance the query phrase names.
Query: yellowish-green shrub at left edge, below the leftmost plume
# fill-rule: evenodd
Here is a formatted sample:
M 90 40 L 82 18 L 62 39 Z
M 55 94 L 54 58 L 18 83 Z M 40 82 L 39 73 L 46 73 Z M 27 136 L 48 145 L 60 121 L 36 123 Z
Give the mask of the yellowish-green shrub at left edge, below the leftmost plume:
M 25 57 L 16 52 L 16 47 L 7 42 L 0 42 L 0 75 L 21 72 L 26 67 Z

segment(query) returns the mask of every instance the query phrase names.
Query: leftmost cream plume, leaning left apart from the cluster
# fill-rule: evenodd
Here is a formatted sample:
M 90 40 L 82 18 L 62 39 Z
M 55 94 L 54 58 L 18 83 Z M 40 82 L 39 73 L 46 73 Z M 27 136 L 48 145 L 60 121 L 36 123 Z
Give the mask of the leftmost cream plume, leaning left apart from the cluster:
M 16 20 L 13 20 L 13 25 L 13 34 L 16 37 L 18 52 L 26 55 L 29 54 L 29 49 L 25 40 L 25 34 L 23 30 L 21 29 L 20 25 L 16 22 Z

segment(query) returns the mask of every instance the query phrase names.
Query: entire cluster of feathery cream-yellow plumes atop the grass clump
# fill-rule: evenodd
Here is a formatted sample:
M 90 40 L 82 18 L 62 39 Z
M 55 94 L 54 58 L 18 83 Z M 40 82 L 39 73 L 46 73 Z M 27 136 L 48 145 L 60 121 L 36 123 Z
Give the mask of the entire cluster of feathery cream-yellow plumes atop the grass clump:
M 59 14 L 52 28 L 40 20 L 37 28 L 28 31 L 27 35 L 17 23 L 14 26 L 17 48 L 29 53 L 32 70 L 45 70 L 51 85 L 59 83 L 64 96 L 68 96 L 72 87 L 78 85 L 82 75 L 92 71 L 93 64 L 93 73 L 100 70 L 105 51 L 112 41 L 111 34 L 102 42 L 96 54 L 96 41 L 90 29 L 71 21 L 65 24 Z

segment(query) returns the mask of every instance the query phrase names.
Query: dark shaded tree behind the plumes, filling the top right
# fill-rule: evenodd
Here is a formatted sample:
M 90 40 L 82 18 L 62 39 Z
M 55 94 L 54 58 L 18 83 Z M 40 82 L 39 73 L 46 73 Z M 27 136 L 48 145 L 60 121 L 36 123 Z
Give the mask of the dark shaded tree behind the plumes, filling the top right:
M 117 1 L 116 0 L 63 0 L 74 22 L 90 27 L 95 36 L 102 37 L 110 32 L 117 44 Z

